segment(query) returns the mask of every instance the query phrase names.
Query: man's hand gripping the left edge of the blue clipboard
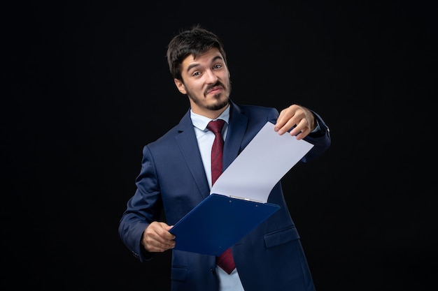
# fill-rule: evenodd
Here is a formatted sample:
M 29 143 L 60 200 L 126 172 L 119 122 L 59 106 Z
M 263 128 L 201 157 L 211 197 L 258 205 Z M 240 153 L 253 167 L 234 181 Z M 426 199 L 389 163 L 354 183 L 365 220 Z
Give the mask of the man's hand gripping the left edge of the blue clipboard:
M 171 228 L 172 226 L 158 221 L 150 223 L 143 232 L 141 244 L 151 253 L 162 253 L 174 248 L 175 236 L 169 232 Z

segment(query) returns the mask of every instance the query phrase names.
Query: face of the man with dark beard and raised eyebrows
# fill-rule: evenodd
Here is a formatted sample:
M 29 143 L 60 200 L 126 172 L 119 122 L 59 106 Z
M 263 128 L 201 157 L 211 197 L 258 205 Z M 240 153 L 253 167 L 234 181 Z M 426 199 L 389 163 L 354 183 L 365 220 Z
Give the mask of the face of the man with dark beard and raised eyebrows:
M 182 63 L 181 80 L 176 87 L 187 94 L 190 107 L 196 114 L 215 119 L 228 105 L 231 86 L 229 71 L 220 52 L 213 48 L 194 59 L 186 57 Z

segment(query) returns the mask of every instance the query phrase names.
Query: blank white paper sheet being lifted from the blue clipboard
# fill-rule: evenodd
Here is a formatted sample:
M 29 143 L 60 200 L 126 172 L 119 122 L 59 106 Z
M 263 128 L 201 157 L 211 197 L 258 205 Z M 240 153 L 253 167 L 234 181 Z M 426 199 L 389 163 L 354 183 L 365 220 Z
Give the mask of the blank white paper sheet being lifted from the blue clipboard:
M 272 188 L 313 147 L 267 122 L 211 188 L 211 193 L 266 203 Z

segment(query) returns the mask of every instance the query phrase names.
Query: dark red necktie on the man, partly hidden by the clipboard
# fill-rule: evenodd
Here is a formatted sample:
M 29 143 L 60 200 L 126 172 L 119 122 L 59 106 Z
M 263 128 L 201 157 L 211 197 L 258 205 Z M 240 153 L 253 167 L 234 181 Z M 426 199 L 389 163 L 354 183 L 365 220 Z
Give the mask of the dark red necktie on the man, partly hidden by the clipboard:
M 207 128 L 213 131 L 215 139 L 213 142 L 213 147 L 211 147 L 211 185 L 218 179 L 220 174 L 222 174 L 222 149 L 224 145 L 224 140 L 222 139 L 222 126 L 225 121 L 218 119 L 216 121 L 210 121 Z M 216 258 L 216 264 L 221 267 L 228 274 L 236 267 L 234 265 L 233 255 L 231 253 L 231 248 L 228 248 L 222 255 Z

